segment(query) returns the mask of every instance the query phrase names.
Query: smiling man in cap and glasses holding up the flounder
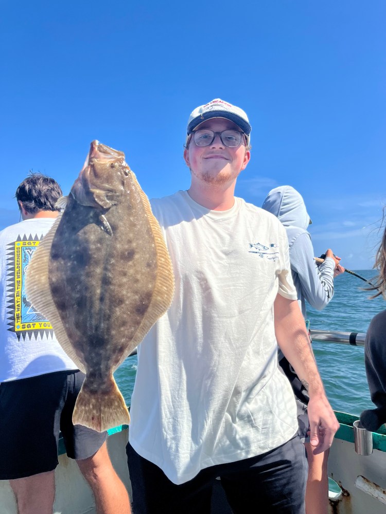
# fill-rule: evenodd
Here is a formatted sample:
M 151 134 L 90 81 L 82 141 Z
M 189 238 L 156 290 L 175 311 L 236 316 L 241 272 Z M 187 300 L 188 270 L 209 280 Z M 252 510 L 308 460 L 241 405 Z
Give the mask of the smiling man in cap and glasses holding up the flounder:
M 141 514 L 209 513 L 220 477 L 233 512 L 304 514 L 307 464 L 277 344 L 308 389 L 314 453 L 339 424 L 297 304 L 284 227 L 234 196 L 251 125 L 220 99 L 190 115 L 188 191 L 152 200 L 171 256 L 170 308 L 138 347 L 128 464 Z

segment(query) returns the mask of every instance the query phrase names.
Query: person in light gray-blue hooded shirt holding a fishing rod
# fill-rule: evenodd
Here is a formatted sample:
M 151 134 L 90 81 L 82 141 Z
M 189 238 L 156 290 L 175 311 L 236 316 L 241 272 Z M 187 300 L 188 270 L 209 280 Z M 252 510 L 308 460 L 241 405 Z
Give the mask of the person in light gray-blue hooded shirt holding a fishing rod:
M 280 186 L 272 189 L 262 208 L 274 214 L 285 226 L 293 283 L 297 292 L 297 300 L 304 319 L 306 319 L 306 300 L 315 309 L 322 310 L 334 295 L 334 278 L 344 272 L 339 264 L 340 258 L 326 251 L 325 260 L 317 266 L 311 236 L 307 232 L 311 224 L 302 195 L 291 186 Z M 299 421 L 299 434 L 307 450 L 308 480 L 306 488 L 307 514 L 327 514 L 328 508 L 328 451 L 314 455 L 307 437 L 308 394 L 290 368 L 288 361 L 279 351 L 279 363 L 288 376 L 293 387 Z

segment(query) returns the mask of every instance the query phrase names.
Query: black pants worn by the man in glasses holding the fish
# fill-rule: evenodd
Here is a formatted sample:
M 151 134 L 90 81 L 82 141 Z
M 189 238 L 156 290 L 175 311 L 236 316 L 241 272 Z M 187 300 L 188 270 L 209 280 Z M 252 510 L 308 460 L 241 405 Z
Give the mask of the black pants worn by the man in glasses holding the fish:
M 201 470 L 173 484 L 155 464 L 126 447 L 133 514 L 210 514 L 217 476 L 234 514 L 304 514 L 307 460 L 299 437 L 270 452 Z

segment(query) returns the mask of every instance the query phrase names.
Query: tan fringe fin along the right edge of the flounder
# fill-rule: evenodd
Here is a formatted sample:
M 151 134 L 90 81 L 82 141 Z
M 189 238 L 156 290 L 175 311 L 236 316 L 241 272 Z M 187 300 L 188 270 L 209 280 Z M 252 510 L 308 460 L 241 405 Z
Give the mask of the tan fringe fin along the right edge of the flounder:
M 159 319 L 167 309 L 170 307 L 174 293 L 174 273 L 172 264 L 170 261 L 169 252 L 166 247 L 166 243 L 161 231 L 160 224 L 157 222 L 154 214 L 151 211 L 151 206 L 148 197 L 139 186 L 136 176 L 133 172 L 133 181 L 135 186 L 138 188 L 139 197 L 141 198 L 142 204 L 145 208 L 145 213 L 148 217 L 150 229 L 154 237 L 155 251 L 157 255 L 157 276 L 155 286 L 153 289 L 153 295 L 147 309 L 147 314 L 144 316 L 141 324 L 139 324 L 137 331 L 135 332 L 128 350 L 122 355 L 121 359 L 117 363 L 114 369 L 118 368 L 122 362 L 131 353 L 132 348 L 138 346 L 142 342 L 150 328 Z M 151 313 L 151 314 L 150 314 Z M 134 345 L 135 346 L 134 346 Z

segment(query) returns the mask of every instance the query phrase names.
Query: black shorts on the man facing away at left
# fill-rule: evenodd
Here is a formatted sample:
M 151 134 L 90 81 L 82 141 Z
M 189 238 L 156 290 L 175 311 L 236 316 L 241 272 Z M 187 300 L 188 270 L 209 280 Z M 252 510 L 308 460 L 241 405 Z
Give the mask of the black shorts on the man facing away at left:
M 84 376 L 60 371 L 0 383 L 0 480 L 54 470 L 59 431 L 71 458 L 81 460 L 99 450 L 107 432 L 72 423 Z

